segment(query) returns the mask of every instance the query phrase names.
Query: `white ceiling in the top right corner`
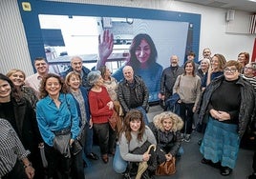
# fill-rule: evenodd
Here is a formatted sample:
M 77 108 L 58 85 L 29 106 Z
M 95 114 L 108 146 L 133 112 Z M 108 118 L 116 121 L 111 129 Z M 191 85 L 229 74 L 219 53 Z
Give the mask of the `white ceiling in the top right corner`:
M 176 0 L 181 2 L 195 3 L 208 7 L 223 8 L 228 10 L 244 10 L 256 13 L 256 1 L 248 0 Z

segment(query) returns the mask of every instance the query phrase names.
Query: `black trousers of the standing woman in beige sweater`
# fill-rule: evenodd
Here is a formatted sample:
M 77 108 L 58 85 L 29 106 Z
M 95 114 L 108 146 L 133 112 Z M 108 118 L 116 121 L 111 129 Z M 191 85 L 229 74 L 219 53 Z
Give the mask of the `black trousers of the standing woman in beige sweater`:
M 181 133 L 191 134 L 193 124 L 193 107 L 194 103 L 181 103 L 180 104 L 180 115 L 184 122 L 184 126 L 181 129 Z

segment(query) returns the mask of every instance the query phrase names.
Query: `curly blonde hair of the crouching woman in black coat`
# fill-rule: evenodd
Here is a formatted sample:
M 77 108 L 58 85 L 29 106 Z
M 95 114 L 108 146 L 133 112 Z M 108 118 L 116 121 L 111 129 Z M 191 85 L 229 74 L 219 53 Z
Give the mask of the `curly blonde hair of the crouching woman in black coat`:
M 153 123 L 156 128 L 160 129 L 161 131 L 164 131 L 162 127 L 162 122 L 164 119 L 171 119 L 172 121 L 172 131 L 181 130 L 183 128 L 183 121 L 181 117 L 171 111 L 164 111 L 160 114 L 155 115 L 153 118 Z

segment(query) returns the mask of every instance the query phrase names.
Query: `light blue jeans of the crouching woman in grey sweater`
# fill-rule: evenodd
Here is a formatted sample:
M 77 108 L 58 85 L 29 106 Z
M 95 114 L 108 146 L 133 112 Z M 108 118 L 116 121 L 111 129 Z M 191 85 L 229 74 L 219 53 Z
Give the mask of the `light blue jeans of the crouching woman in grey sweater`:
M 122 159 L 120 155 L 119 145 L 117 145 L 115 156 L 113 159 L 113 169 L 117 173 L 122 173 L 126 170 L 127 166 L 128 166 L 128 162 Z

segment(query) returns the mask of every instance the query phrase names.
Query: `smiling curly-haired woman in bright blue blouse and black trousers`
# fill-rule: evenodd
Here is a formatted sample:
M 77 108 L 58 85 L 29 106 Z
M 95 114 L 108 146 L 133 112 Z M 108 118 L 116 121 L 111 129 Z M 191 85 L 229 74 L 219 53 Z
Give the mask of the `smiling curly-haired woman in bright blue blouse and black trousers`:
M 49 177 L 70 177 L 70 147 L 79 132 L 79 118 L 75 100 L 61 77 L 49 73 L 40 87 L 41 100 L 36 104 L 36 119 L 45 142 Z M 81 164 L 82 165 L 82 164 Z

